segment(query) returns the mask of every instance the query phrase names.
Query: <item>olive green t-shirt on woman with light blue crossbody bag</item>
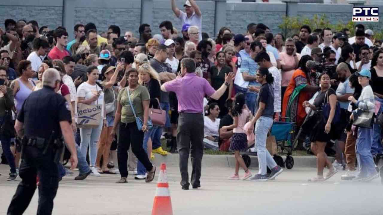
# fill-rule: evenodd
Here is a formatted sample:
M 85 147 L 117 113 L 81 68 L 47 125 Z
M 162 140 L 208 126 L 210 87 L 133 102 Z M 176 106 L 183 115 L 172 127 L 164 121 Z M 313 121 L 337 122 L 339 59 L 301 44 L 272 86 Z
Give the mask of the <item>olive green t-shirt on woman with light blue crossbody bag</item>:
M 130 93 L 130 99 L 133 103 L 134 111 L 136 111 L 136 116 L 142 117 L 144 116 L 144 107 L 142 106 L 142 101 L 150 100 L 149 91 L 147 91 L 146 87 L 138 86 L 136 90 L 129 90 L 129 87 L 122 88 L 117 97 L 117 101 L 121 104 L 121 122 L 123 123 L 131 123 L 135 122 L 134 114 L 132 108 L 129 103 L 128 94 Z

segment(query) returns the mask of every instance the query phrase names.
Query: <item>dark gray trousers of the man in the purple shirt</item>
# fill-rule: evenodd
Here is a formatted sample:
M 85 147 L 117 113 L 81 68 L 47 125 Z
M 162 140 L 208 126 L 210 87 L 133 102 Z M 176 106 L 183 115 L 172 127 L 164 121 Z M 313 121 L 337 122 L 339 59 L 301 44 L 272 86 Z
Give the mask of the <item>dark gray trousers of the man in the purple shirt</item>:
M 188 160 L 191 151 L 191 184 L 200 185 L 203 156 L 203 114 L 180 113 L 177 127 L 177 148 L 180 155 L 181 185 L 189 185 Z

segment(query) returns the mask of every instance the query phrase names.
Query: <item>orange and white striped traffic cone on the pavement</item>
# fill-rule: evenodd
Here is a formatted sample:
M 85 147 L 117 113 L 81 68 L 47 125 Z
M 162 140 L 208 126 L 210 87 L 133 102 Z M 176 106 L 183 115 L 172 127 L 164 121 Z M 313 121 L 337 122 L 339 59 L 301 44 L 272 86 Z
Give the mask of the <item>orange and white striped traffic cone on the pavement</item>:
M 161 164 L 160 175 L 157 182 L 157 190 L 155 191 L 152 215 L 173 215 L 165 163 Z

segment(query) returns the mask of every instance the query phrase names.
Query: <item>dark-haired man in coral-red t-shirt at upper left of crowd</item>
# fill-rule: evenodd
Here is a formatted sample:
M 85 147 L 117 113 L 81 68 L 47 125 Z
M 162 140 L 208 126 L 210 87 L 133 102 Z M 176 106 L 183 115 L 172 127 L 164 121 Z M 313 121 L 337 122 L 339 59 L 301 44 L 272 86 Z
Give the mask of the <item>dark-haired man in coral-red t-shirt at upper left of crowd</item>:
M 48 57 L 51 60 L 62 60 L 65 56 L 69 56 L 69 52 L 65 49 L 68 44 L 68 33 L 59 28 L 54 30 L 53 37 L 56 39 L 56 46 L 49 52 Z

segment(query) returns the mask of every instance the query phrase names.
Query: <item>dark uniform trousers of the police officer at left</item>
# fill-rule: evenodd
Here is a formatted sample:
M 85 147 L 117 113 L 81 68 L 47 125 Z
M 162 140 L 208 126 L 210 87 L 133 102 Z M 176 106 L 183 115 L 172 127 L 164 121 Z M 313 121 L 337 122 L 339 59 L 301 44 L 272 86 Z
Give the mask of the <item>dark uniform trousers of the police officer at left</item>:
M 54 153 L 35 147 L 26 147 L 20 165 L 22 181 L 16 189 L 15 195 L 8 207 L 7 215 L 23 214 L 36 190 L 36 176 L 39 176 L 39 206 L 38 215 L 52 214 L 53 199 L 59 187 L 57 164 L 53 162 Z

